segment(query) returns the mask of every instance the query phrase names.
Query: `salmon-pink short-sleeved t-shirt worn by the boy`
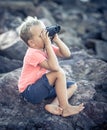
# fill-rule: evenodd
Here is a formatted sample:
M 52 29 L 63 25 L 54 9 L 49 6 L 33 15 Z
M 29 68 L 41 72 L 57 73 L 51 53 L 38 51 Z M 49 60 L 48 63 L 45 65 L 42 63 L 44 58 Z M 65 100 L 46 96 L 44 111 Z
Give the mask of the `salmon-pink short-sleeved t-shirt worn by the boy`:
M 54 52 L 58 50 L 58 47 L 52 45 Z M 26 87 L 36 82 L 43 74 L 47 72 L 45 68 L 42 68 L 39 64 L 47 59 L 46 52 L 41 50 L 28 48 L 23 61 L 23 67 L 21 76 L 18 82 L 19 92 L 23 92 Z

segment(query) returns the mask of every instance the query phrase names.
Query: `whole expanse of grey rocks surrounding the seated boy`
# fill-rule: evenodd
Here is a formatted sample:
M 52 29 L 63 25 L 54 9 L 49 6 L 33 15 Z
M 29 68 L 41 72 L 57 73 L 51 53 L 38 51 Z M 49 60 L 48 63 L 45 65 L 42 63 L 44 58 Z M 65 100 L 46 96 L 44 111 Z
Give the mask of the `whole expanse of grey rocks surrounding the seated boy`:
M 35 106 L 21 99 L 17 82 L 27 47 L 17 30 L 29 15 L 61 25 L 59 36 L 72 56 L 59 63 L 78 84 L 69 102 L 85 104 L 80 114 L 51 115 L 44 105 L 52 99 Z M 0 21 L 0 130 L 106 130 L 107 1 L 0 1 Z

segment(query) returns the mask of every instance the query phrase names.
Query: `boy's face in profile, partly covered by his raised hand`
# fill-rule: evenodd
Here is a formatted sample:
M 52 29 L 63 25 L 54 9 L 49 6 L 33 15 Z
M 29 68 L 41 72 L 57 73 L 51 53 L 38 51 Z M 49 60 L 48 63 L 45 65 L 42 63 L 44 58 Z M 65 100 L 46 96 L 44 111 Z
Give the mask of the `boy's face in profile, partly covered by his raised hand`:
M 31 27 L 31 33 L 32 33 L 32 39 L 30 39 L 30 46 L 35 49 L 43 49 L 44 48 L 44 42 L 41 38 L 41 32 L 45 29 L 44 24 L 38 24 L 33 27 Z M 28 41 L 28 42 L 29 42 Z

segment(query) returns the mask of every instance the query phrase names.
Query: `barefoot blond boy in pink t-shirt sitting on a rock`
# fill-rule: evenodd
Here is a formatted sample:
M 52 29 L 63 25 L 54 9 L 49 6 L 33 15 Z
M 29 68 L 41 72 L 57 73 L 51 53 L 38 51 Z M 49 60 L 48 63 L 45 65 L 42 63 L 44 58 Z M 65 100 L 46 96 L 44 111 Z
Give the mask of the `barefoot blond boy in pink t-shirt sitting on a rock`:
M 64 71 L 56 56 L 70 57 L 68 47 L 56 34 L 51 44 L 45 25 L 37 18 L 28 17 L 21 25 L 20 37 L 28 45 L 23 68 L 19 78 L 19 92 L 32 104 L 42 100 L 56 98 L 45 109 L 63 117 L 78 114 L 84 109 L 83 104 L 72 106 L 68 99 L 77 89 L 73 82 L 67 82 Z M 67 89 L 67 87 L 69 87 Z

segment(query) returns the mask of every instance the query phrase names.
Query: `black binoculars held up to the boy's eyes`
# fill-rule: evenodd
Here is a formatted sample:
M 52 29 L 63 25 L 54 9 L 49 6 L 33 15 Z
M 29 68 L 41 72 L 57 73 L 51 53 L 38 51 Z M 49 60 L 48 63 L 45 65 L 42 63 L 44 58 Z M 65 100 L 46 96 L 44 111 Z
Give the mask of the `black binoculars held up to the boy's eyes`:
M 46 30 L 49 32 L 50 37 L 54 37 L 56 33 L 59 33 L 61 27 L 59 25 L 54 25 L 54 26 L 48 26 L 46 27 Z

